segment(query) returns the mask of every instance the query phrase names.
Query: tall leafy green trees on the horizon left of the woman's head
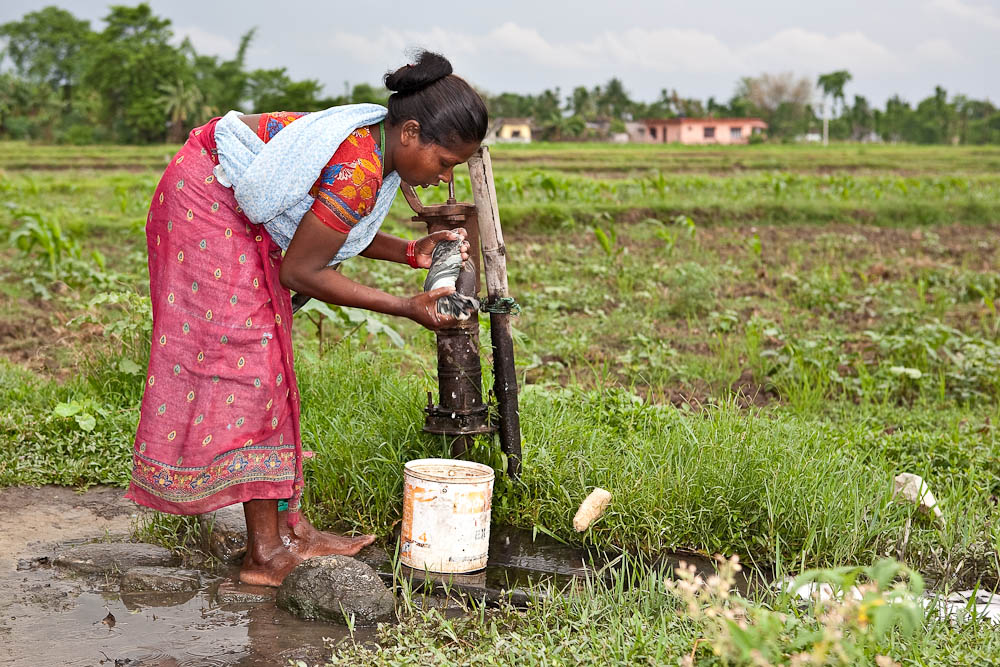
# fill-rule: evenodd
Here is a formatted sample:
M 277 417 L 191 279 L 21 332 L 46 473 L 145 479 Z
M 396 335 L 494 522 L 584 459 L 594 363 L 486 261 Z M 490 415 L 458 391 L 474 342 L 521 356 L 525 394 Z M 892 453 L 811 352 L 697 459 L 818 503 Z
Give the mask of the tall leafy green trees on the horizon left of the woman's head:
M 255 29 L 224 60 L 171 44 L 170 20 L 146 3 L 115 5 L 100 32 L 59 7 L 0 25 L 0 137 L 66 143 L 180 141 L 230 109 L 322 109 L 384 103 L 367 83 L 327 96 L 315 79 L 296 81 L 284 67 L 248 70 Z

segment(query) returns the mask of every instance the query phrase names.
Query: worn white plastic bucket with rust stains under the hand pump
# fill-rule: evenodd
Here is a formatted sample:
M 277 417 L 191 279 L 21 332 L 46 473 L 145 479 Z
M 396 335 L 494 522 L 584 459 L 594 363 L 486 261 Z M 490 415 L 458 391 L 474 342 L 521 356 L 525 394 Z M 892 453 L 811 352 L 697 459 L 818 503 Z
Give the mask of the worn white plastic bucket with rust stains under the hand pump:
M 403 565 L 445 573 L 486 567 L 493 477 L 492 468 L 471 461 L 417 459 L 403 466 Z

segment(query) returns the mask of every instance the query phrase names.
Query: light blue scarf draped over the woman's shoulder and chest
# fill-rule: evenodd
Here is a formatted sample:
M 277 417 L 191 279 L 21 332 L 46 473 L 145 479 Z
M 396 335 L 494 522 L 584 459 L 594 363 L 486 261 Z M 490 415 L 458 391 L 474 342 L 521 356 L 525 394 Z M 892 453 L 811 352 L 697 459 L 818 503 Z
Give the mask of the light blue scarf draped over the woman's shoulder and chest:
M 349 104 L 317 111 L 289 124 L 264 143 L 230 111 L 215 126 L 219 183 L 232 187 L 236 203 L 252 222 L 263 224 L 282 250 L 288 249 L 302 216 L 314 201 L 309 196 L 316 179 L 347 136 L 359 127 L 385 118 L 377 104 Z M 399 191 L 399 174 L 382 180 L 375 206 L 347 235 L 330 264 L 361 253 L 375 238 Z

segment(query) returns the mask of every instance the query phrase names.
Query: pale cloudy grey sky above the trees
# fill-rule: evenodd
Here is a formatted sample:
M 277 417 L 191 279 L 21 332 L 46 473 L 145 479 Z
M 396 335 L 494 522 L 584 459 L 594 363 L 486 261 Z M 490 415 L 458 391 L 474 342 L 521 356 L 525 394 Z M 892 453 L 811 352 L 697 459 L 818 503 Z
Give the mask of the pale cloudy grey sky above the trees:
M 2 3 L 0 22 L 53 4 Z M 110 4 L 56 3 L 96 29 Z M 327 94 L 378 83 L 416 47 L 447 56 L 490 93 L 591 88 L 617 76 L 633 99 L 663 88 L 727 100 L 743 76 L 791 71 L 815 81 L 847 69 L 850 99 L 917 102 L 935 85 L 1000 103 L 1000 0 L 575 0 L 370 5 L 299 0 L 152 0 L 177 40 L 230 58 L 257 27 L 250 68 L 285 67 Z M 288 8 L 286 11 L 284 8 Z M 818 99 L 818 93 L 817 93 Z

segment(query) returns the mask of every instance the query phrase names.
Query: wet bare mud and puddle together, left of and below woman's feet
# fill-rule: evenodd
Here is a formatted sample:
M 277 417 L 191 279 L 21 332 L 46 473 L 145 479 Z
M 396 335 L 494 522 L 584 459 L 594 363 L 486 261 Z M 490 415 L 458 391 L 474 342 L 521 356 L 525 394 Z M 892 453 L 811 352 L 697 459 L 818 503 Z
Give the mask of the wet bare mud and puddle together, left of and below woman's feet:
M 138 510 L 120 489 L 0 490 L 0 665 L 180 667 L 322 663 L 347 628 L 300 620 L 274 589 L 206 573 L 186 593 L 121 593 L 117 576 L 52 565 L 67 548 L 128 539 Z M 371 641 L 372 630 L 354 639 Z

